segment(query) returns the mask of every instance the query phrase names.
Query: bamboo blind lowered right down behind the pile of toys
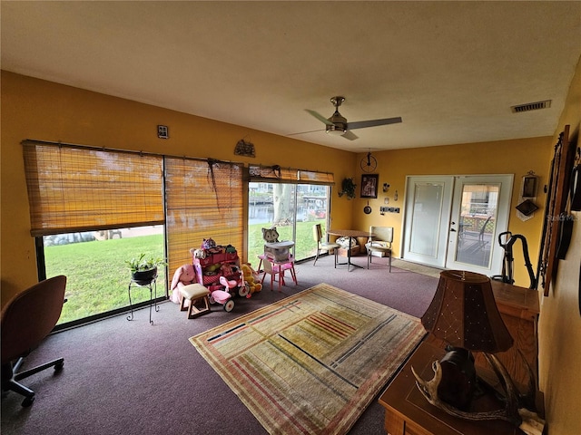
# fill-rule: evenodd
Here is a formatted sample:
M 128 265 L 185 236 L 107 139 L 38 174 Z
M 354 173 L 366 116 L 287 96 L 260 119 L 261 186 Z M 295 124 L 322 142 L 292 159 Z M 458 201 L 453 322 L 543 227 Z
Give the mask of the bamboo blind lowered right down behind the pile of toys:
M 242 256 L 242 166 L 165 158 L 166 231 L 170 271 L 192 263 L 191 248 L 212 237 Z

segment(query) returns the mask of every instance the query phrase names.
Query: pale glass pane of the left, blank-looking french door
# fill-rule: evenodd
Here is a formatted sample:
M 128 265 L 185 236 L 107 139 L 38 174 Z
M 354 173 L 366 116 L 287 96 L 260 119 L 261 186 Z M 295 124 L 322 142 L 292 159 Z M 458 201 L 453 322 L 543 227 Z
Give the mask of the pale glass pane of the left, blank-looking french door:
M 435 258 L 444 185 L 416 183 L 415 188 L 409 252 Z

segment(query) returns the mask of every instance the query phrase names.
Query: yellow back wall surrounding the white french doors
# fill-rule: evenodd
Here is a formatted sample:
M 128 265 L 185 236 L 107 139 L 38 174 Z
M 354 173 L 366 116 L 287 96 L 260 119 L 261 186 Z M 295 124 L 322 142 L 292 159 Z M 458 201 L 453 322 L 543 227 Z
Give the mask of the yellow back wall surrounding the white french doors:
M 389 183 L 389 191 L 383 194 L 379 189 L 377 199 L 369 199 L 369 206 L 374 212 L 370 215 L 363 213 L 367 205 L 367 199 L 354 201 L 353 222 L 356 227 L 369 228 L 374 226 L 394 227 L 394 256 L 397 256 L 401 248 L 403 213 L 388 213 L 379 215 L 379 207 L 383 206 L 383 200 L 389 197 L 389 207 L 399 207 L 403 212 L 404 188 L 406 176 L 412 175 L 475 175 L 475 174 L 513 174 L 513 194 L 510 208 L 508 230 L 513 234 L 522 234 L 527 238 L 529 256 L 536 271 L 539 237 L 543 227 L 543 213 L 546 195 L 542 186 L 547 184 L 549 164 L 552 153 L 552 138 L 533 138 L 519 140 L 502 140 L 487 143 L 469 143 L 461 145 L 448 145 L 413 150 L 389 150 L 373 152 L 378 160 L 377 172 L 379 173 L 379 188 L 383 183 Z M 365 159 L 366 154 L 359 154 L 359 161 Z M 518 204 L 518 192 L 521 186 L 521 177 L 533 170 L 539 176 L 539 188 L 537 192 L 537 205 L 539 210 L 534 218 L 523 222 L 517 218 L 515 206 Z M 360 186 L 360 174 L 358 172 L 358 188 Z M 398 201 L 394 201 L 394 194 L 398 191 Z M 358 190 L 359 192 L 359 190 Z M 528 278 L 525 260 L 522 256 L 520 243 L 514 246 L 515 256 L 515 280 L 517 285 L 528 287 Z

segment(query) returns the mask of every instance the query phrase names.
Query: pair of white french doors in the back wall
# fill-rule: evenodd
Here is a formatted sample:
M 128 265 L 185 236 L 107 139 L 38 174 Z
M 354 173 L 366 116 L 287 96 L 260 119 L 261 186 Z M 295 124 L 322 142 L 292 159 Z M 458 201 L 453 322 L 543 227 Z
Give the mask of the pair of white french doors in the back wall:
M 512 175 L 409 177 L 403 258 L 484 275 L 501 272 Z

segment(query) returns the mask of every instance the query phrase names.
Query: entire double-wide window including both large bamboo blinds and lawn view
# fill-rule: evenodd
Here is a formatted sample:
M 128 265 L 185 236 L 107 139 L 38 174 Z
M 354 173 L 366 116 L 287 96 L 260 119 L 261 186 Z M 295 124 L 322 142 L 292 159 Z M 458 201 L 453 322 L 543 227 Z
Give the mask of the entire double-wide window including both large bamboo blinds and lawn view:
M 39 278 L 68 278 L 61 325 L 124 311 L 124 261 L 133 256 L 166 257 L 173 271 L 192 261 L 190 249 L 203 238 L 242 247 L 240 164 L 32 140 L 23 146 Z M 158 274 L 157 295 L 165 296 L 166 270 Z M 149 289 L 132 289 L 133 304 L 149 297 Z

